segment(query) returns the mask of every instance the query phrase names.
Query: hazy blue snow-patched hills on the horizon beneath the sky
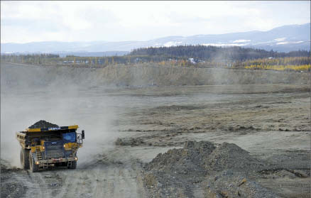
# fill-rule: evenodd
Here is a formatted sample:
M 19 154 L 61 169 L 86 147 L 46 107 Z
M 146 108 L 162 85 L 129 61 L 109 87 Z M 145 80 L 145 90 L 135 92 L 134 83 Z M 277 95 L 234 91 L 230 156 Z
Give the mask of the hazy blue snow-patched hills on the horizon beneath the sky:
M 176 45 L 241 46 L 289 52 L 310 50 L 310 23 L 273 28 L 271 31 L 244 33 L 169 36 L 147 41 L 122 42 L 33 42 L 1 43 L 1 53 L 97 53 L 107 51 L 129 52 L 136 48 L 169 47 Z

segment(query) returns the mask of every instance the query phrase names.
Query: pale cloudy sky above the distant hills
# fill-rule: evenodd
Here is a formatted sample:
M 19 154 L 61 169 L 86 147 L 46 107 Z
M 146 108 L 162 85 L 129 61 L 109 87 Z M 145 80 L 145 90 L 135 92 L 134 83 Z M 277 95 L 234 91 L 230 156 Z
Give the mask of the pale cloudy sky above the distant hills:
M 152 40 L 310 23 L 310 1 L 1 1 L 1 43 Z

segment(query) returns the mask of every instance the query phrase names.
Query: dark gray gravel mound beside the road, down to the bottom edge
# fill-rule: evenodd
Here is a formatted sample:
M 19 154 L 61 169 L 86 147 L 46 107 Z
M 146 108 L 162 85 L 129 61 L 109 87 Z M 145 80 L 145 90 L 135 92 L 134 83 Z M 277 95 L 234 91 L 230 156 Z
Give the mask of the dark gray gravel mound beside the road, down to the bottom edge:
M 204 194 L 210 195 L 208 197 L 226 194 L 229 197 L 231 195 L 236 197 L 237 190 L 240 191 L 239 194 L 252 197 L 254 194 L 258 196 L 270 192 L 263 187 L 257 187 L 259 185 L 256 183 L 240 189 L 240 179 L 247 178 L 250 173 L 257 174 L 256 172 L 265 167 L 266 163 L 253 158 L 249 152 L 233 143 L 222 143 L 217 146 L 208 141 L 187 141 L 183 148 L 160 153 L 147 163 L 144 167 L 144 180 L 146 187 L 159 197 L 168 194 L 175 194 L 173 197 L 197 197 L 196 188 L 201 188 Z M 224 174 L 219 175 L 222 172 L 234 172 L 234 175 L 231 175 L 230 180 L 226 180 Z M 214 185 L 213 182 L 218 178 L 222 180 Z M 206 181 L 211 184 L 209 182 L 204 184 Z M 226 194 L 222 194 L 221 190 L 226 189 L 227 182 L 231 182 L 232 189 L 227 189 Z

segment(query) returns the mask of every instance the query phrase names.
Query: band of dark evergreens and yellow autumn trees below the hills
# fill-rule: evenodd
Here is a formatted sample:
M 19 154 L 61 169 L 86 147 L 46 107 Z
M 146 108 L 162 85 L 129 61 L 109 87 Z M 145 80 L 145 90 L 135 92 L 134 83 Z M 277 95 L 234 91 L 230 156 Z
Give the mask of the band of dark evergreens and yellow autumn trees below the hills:
M 133 65 L 155 62 L 159 65 L 185 67 L 229 67 L 264 70 L 305 70 L 310 71 L 310 51 L 298 50 L 278 53 L 253 48 L 215 47 L 205 45 L 180 45 L 160 48 L 138 48 L 128 55 L 80 57 L 54 54 L 1 55 L 3 62 L 38 65 L 84 65 L 105 67 L 107 65 Z

